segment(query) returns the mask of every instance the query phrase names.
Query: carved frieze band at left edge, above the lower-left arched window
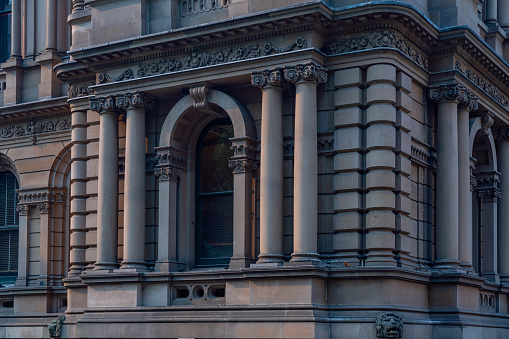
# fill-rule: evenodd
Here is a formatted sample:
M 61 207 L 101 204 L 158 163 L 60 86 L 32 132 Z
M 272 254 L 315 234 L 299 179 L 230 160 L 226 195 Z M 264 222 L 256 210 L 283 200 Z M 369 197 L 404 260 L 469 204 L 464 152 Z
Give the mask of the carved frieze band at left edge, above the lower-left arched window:
M 31 121 L 22 125 L 12 125 L 0 128 L 0 138 L 9 139 L 23 136 L 33 137 L 35 134 L 68 131 L 71 128 L 71 118 Z

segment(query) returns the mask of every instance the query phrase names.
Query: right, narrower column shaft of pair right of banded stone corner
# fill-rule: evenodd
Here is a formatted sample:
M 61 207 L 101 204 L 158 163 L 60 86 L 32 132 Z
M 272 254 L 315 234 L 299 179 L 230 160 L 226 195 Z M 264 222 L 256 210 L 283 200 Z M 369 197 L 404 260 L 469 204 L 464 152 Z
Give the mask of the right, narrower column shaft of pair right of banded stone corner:
M 472 269 L 472 193 L 470 191 L 469 111 L 458 109 L 458 251 L 461 266 Z

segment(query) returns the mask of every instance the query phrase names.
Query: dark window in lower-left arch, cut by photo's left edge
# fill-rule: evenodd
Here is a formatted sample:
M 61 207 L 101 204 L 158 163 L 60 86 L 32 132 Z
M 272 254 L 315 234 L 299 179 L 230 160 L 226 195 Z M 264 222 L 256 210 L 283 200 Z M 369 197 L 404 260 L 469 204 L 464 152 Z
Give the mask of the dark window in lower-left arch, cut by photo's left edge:
M 18 274 L 19 188 L 11 172 L 0 172 L 0 284 L 13 283 Z

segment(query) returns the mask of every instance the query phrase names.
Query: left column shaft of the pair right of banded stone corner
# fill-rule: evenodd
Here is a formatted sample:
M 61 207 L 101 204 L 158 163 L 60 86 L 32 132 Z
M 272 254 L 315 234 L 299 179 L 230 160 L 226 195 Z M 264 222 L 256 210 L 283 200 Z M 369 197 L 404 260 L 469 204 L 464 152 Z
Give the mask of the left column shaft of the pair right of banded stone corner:
M 440 266 L 459 263 L 457 107 L 455 100 L 438 103 L 436 263 Z

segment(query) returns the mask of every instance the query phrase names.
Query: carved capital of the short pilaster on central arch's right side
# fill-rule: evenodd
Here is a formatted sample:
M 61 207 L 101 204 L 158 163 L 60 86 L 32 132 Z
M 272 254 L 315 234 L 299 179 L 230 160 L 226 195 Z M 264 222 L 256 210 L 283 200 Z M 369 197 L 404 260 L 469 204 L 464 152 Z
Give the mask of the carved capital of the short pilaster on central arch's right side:
M 233 174 L 252 173 L 257 166 L 257 141 L 251 138 L 232 138 L 231 149 L 233 156 L 230 158 L 229 166 Z

